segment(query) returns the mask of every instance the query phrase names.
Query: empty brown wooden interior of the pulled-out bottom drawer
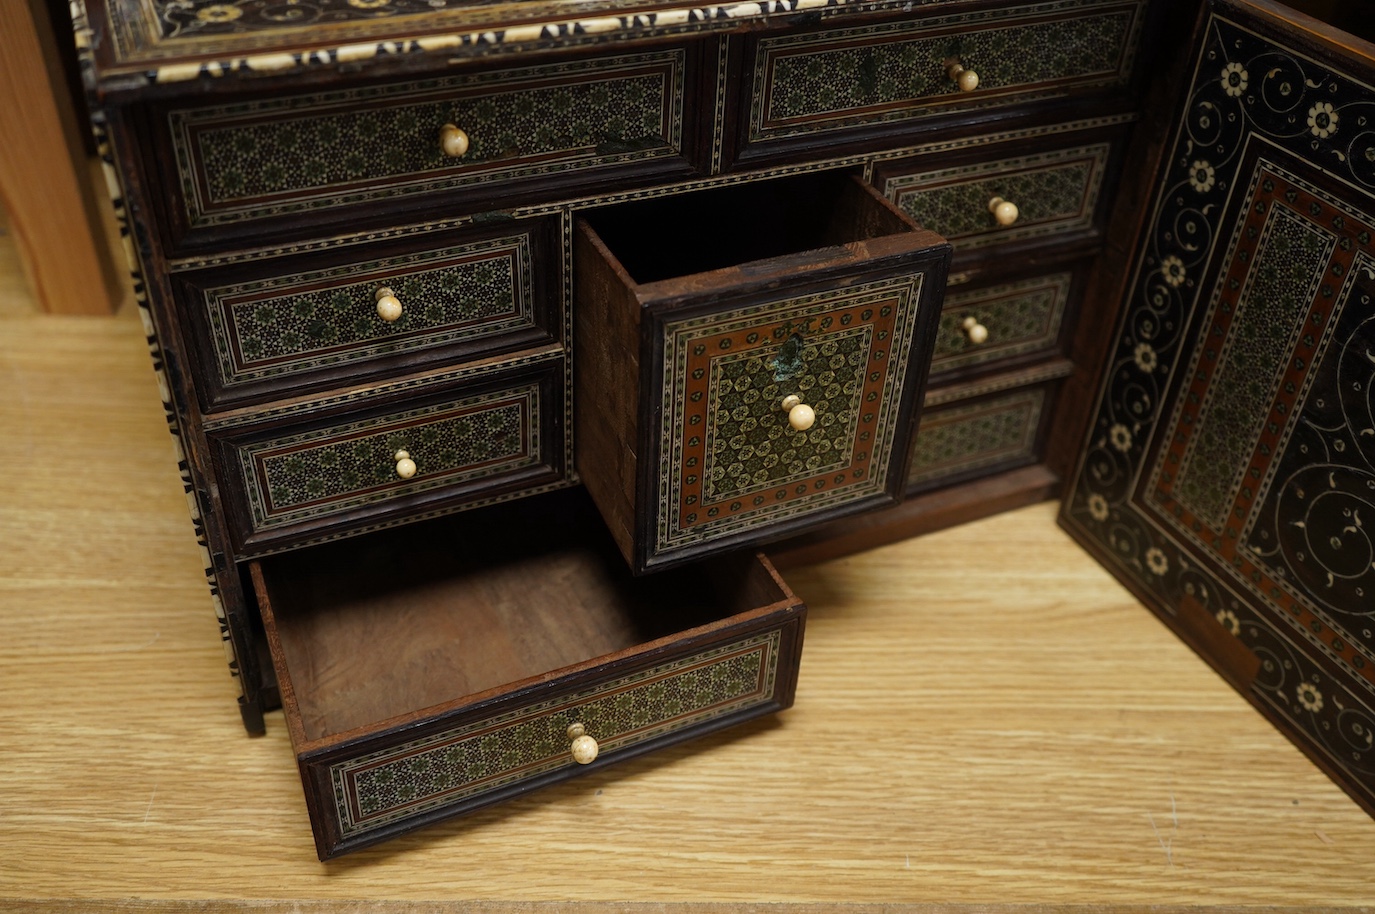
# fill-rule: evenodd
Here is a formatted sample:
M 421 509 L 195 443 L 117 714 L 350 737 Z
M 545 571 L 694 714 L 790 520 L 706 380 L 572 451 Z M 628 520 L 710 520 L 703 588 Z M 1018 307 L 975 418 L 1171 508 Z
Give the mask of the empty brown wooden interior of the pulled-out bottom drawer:
M 264 558 L 250 573 L 293 741 L 307 744 L 796 601 L 756 557 L 631 577 L 582 491 Z

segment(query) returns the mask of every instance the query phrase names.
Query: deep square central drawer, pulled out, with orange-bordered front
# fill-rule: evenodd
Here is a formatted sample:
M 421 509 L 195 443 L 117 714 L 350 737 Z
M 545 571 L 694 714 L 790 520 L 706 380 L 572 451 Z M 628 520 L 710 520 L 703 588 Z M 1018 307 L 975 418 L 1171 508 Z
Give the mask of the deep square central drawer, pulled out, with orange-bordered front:
M 637 570 L 901 498 L 943 239 L 824 173 L 598 210 L 573 249 L 578 465 Z

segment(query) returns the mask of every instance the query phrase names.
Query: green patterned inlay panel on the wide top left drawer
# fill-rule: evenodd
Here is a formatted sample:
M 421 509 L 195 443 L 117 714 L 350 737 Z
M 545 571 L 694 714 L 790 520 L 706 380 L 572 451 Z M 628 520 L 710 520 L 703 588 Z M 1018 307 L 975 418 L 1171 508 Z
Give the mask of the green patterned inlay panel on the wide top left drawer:
M 670 51 L 173 111 L 170 129 L 199 225 L 672 155 L 681 80 Z M 440 150 L 448 122 L 468 133 L 462 158 Z

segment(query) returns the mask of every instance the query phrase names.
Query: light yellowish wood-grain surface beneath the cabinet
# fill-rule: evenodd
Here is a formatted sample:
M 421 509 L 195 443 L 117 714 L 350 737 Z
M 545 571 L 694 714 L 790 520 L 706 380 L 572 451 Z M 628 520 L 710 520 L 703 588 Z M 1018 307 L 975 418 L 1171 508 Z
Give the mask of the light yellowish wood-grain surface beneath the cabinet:
M 322 865 L 280 715 L 241 728 L 135 315 L 34 313 L 6 241 L 0 910 L 1375 904 L 1375 821 L 1053 504 L 792 573 L 777 720 Z

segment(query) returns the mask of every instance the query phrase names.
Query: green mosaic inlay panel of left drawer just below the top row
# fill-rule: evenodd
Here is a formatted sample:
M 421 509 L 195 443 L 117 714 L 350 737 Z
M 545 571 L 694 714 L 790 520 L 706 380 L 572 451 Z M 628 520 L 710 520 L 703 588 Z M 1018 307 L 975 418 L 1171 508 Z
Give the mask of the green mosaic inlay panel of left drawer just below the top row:
M 402 316 L 377 316 L 377 290 Z M 529 235 L 208 289 L 226 385 L 485 337 L 532 322 Z

